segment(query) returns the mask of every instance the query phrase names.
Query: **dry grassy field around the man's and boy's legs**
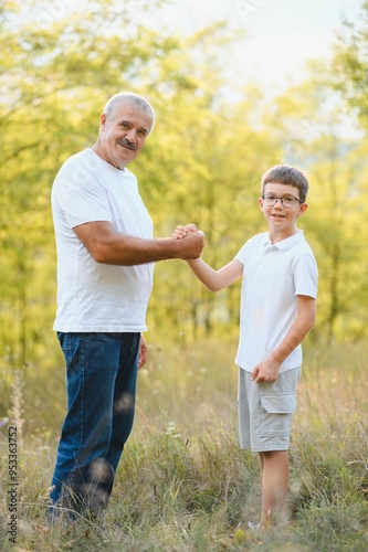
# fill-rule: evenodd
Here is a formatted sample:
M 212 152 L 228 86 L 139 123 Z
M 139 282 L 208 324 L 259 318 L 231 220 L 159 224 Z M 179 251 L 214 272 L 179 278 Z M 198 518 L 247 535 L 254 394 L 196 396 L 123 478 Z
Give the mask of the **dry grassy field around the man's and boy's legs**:
M 238 446 L 235 344 L 207 341 L 151 348 L 103 527 L 85 519 L 69 528 L 46 524 L 57 435 L 48 426 L 28 429 L 18 382 L 12 417 L 1 428 L 0 549 L 368 550 L 367 347 L 308 342 L 304 350 L 290 450 L 288 527 L 248 529 L 249 520 L 259 519 L 261 488 L 256 455 Z M 10 541 L 8 511 L 12 425 L 18 427 L 17 543 Z

